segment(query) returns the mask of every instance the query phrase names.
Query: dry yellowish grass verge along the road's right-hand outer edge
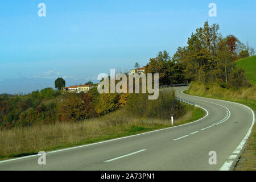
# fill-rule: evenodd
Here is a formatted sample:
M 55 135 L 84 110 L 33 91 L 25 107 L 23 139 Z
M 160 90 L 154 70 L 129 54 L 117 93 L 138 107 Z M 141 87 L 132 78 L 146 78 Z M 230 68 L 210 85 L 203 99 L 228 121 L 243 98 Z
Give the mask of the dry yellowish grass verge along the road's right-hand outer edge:
M 238 102 L 249 106 L 256 113 L 255 87 L 240 90 L 226 90 L 217 85 L 204 85 L 192 82 L 185 93 L 194 96 Z M 245 145 L 245 150 L 234 170 L 256 170 L 256 125 L 254 125 L 251 131 L 251 135 Z

